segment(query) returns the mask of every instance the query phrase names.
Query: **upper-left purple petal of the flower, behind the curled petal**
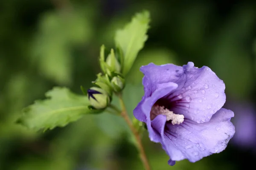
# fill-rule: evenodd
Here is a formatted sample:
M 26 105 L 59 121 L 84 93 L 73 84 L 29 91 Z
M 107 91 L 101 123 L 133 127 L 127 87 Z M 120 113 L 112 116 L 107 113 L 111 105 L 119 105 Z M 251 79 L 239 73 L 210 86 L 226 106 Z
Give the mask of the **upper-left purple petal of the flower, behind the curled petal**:
M 157 89 L 157 84 L 175 82 L 179 87 L 183 87 L 186 81 L 183 70 L 181 66 L 174 64 L 155 65 L 149 63 L 142 66 L 140 71 L 145 75 L 143 77 L 145 97 L 150 96 Z

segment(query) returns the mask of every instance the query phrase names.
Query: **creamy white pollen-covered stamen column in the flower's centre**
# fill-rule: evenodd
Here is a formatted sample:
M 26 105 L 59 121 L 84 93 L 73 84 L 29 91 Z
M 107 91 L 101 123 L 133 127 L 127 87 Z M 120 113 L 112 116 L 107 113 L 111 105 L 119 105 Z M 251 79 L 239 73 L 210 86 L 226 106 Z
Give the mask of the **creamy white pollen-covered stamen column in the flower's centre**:
M 154 105 L 151 108 L 150 119 L 153 120 L 157 115 L 162 114 L 166 116 L 167 121 L 172 120 L 172 125 L 180 125 L 184 121 L 184 116 L 182 114 L 175 114 L 169 109 L 164 108 L 164 106 Z

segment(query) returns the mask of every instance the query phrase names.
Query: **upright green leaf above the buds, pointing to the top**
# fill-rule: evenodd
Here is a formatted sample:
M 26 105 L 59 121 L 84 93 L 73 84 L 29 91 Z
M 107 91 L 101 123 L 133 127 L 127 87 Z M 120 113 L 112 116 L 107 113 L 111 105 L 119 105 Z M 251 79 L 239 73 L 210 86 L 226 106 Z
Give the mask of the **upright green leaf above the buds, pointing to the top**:
M 147 40 L 147 30 L 149 28 L 150 18 L 149 12 L 143 11 L 136 14 L 131 23 L 125 26 L 124 29 L 116 31 L 115 43 L 120 47 L 124 55 L 124 65 L 122 73 L 126 75 L 131 69 L 134 60 L 139 51 L 143 48 Z

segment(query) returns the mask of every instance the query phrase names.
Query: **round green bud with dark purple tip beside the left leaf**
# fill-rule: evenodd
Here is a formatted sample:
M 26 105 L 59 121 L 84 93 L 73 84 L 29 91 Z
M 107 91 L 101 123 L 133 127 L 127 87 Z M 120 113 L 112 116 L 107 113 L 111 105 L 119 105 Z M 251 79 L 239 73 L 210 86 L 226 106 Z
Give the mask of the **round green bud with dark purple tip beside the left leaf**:
M 108 94 L 101 88 L 92 87 L 88 89 L 87 96 L 90 101 L 90 105 L 96 109 L 106 108 L 110 102 Z

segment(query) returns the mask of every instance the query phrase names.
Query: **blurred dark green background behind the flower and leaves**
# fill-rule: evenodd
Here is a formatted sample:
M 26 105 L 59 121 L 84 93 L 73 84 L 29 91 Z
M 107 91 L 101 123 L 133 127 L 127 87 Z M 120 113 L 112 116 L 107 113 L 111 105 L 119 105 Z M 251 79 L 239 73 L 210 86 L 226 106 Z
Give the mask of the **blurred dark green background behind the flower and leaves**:
M 142 170 L 119 117 L 87 115 L 51 131 L 16 125 L 22 108 L 54 86 L 82 94 L 96 79 L 99 47 L 143 9 L 151 13 L 145 48 L 127 77 L 132 110 L 143 96 L 139 68 L 149 62 L 207 65 L 224 80 L 236 135 L 222 153 L 167 164 L 160 144 L 143 144 L 152 170 L 239 170 L 256 161 L 256 2 L 246 0 L 1 0 L 0 170 Z

